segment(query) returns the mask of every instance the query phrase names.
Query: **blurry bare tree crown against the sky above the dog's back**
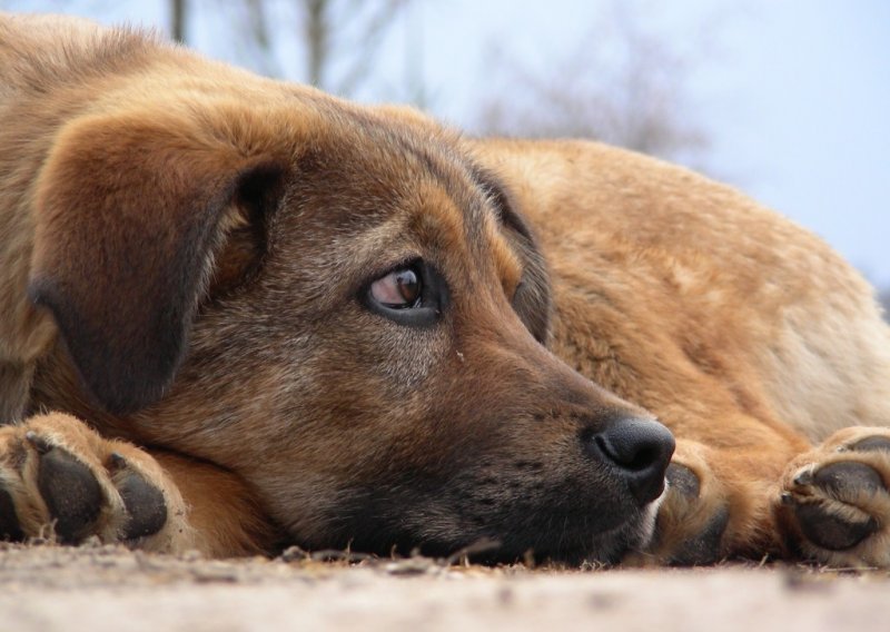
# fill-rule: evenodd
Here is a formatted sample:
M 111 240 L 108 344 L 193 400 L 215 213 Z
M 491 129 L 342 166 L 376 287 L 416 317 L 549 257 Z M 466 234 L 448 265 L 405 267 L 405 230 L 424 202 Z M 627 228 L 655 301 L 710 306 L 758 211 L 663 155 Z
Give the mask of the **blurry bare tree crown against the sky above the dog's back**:
M 591 138 L 702 167 L 708 134 L 689 116 L 693 56 L 644 29 L 640 2 L 613 2 L 574 53 L 545 72 L 500 61 L 483 134 Z M 500 66 L 500 68 L 497 68 Z

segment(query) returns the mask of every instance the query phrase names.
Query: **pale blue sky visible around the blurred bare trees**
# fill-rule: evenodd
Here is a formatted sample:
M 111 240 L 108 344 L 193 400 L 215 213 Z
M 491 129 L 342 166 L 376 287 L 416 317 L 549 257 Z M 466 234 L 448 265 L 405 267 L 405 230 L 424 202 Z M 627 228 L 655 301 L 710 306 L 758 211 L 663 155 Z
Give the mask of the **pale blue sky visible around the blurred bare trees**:
M 207 17 L 226 4 L 199 0 L 205 23 L 192 34 L 197 48 L 231 60 L 238 47 L 220 38 L 215 16 Z M 364 96 L 390 98 L 386 78 L 392 88 L 406 72 L 419 72 L 434 113 L 472 127 L 479 95 L 492 81 L 493 48 L 546 72 L 548 65 L 583 50 L 580 45 L 609 4 L 419 0 L 386 40 L 378 62 L 384 81 Z M 688 41 L 709 40 L 702 59 L 693 60 L 686 91 L 689 116 L 711 140 L 710 171 L 814 230 L 869 278 L 890 287 L 890 2 L 634 6 L 645 12 L 647 27 L 681 49 Z M 167 17 L 161 0 L 0 0 L 0 7 L 66 10 L 161 28 Z M 406 47 L 414 52 L 406 56 Z

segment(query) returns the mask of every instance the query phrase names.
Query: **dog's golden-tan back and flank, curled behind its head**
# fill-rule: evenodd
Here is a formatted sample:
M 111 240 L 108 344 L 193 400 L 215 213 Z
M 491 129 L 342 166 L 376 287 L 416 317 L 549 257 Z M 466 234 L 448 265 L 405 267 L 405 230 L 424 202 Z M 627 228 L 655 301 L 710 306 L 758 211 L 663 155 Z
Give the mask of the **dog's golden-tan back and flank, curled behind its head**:
M 691 383 L 676 371 L 689 366 L 733 391 L 733 406 L 811 441 L 890 424 L 890 328 L 861 275 L 817 236 L 729 187 L 612 147 L 484 140 L 476 150 L 524 181 L 514 194 L 564 294 L 557 353 L 572 355 L 566 339 L 583 319 L 634 365 L 594 364 L 583 373 L 595 382 L 672 418 Z M 583 312 L 560 318 L 578 299 Z M 674 368 L 660 376 L 652 349 L 674 349 Z

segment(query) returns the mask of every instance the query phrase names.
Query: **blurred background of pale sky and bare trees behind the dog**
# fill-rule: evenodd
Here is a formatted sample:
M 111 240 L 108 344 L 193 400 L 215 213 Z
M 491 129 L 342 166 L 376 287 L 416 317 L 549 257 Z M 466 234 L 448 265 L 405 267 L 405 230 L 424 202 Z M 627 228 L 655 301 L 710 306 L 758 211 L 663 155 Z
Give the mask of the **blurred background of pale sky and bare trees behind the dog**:
M 0 0 L 469 134 L 585 137 L 732 184 L 821 235 L 890 307 L 886 0 Z

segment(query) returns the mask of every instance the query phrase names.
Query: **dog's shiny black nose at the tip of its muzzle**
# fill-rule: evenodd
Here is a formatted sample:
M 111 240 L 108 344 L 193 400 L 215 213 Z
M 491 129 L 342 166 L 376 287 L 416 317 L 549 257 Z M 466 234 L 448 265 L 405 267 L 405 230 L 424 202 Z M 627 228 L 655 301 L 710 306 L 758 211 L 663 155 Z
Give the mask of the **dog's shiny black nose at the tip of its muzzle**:
M 600 433 L 589 435 L 586 447 L 597 458 L 617 466 L 640 504 L 664 491 L 664 473 L 674 453 L 674 436 L 659 422 L 622 418 Z

